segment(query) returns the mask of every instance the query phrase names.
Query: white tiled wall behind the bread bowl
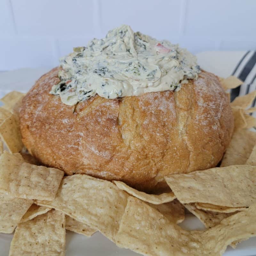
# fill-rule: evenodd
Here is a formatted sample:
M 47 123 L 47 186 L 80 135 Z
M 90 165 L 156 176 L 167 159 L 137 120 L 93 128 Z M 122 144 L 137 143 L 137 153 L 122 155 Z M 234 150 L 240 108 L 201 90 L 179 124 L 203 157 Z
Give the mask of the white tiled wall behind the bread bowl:
M 193 53 L 256 49 L 256 0 L 0 0 L 0 70 L 53 67 L 129 24 Z

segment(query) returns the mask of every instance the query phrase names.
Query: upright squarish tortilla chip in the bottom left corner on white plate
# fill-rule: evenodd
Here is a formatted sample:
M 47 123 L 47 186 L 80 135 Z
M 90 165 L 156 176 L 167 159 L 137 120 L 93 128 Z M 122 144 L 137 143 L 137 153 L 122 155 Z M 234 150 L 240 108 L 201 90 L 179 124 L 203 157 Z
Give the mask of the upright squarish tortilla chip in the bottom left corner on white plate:
M 65 214 L 51 210 L 17 225 L 9 256 L 64 256 L 65 245 Z

